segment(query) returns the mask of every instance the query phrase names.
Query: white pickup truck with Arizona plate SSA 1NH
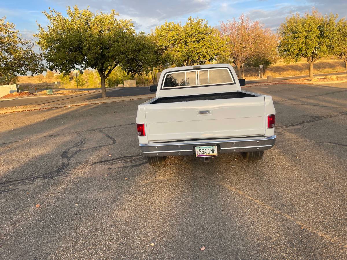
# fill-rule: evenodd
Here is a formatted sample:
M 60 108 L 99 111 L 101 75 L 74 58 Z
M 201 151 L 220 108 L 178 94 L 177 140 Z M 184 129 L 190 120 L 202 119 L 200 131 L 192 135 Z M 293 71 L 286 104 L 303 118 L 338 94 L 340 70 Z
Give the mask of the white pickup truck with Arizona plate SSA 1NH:
M 229 64 L 163 70 L 156 97 L 137 108 L 141 153 L 150 165 L 167 156 L 196 156 L 209 161 L 221 153 L 241 153 L 257 161 L 273 147 L 275 109 L 271 96 L 241 90 Z

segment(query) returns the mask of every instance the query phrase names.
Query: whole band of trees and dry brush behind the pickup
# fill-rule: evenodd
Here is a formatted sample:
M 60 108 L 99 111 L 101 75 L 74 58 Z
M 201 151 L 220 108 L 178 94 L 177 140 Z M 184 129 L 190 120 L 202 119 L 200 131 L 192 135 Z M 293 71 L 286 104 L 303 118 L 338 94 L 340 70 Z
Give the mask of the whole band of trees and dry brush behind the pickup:
M 221 21 L 219 29 L 198 17 L 166 21 L 148 34 L 118 19 L 115 10 L 93 13 L 74 6 L 64 15 L 52 9 L 43 15 L 49 23 L 38 24 L 37 42 L 0 19 L 1 85 L 101 87 L 105 97 L 106 87 L 124 80 L 149 86 L 165 68 L 216 62 L 233 64 L 239 78 L 347 73 L 347 20 L 315 9 L 287 17 L 277 33 L 244 15 Z

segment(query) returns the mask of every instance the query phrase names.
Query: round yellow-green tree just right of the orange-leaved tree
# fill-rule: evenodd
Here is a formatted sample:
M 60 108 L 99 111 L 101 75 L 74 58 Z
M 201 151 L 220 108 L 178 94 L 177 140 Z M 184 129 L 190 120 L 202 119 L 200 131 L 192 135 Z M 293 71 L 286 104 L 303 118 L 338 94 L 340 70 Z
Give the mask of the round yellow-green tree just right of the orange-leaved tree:
M 331 37 L 335 31 L 337 16 L 324 17 L 318 11 L 306 13 L 303 17 L 293 14 L 278 29 L 279 53 L 286 60 L 306 58 L 310 64 L 310 77 L 313 77 L 313 63 L 331 54 Z

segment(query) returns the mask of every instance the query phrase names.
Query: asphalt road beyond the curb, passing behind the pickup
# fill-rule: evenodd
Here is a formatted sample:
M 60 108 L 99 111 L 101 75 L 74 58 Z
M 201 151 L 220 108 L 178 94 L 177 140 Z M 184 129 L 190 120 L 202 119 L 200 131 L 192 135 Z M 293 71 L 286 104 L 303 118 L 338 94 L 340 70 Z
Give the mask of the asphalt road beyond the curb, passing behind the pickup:
M 329 73 L 329 74 L 315 74 L 314 76 L 325 76 L 325 75 L 339 75 L 343 73 Z M 273 79 L 273 81 L 281 81 L 285 79 L 295 79 L 295 78 L 305 78 L 306 76 L 296 76 L 296 77 L 282 77 Z M 266 82 L 266 79 L 260 80 L 247 80 L 246 84 Z M 69 90 L 77 90 L 70 89 Z M 87 99 L 96 99 L 101 97 L 100 88 L 80 88 L 79 90 L 93 90 L 91 93 L 84 94 L 74 94 L 74 95 L 64 95 L 64 96 L 46 96 L 46 97 L 28 97 L 28 98 L 18 98 L 11 100 L 1 100 L 0 107 L 11 107 L 11 106 L 25 106 L 25 105 L 41 105 L 41 104 L 54 104 L 66 101 L 82 102 Z M 95 91 L 96 90 L 96 91 Z M 130 88 L 111 88 L 107 89 L 108 97 L 119 97 L 119 96 L 137 96 L 153 94 L 149 91 L 149 87 L 130 87 Z

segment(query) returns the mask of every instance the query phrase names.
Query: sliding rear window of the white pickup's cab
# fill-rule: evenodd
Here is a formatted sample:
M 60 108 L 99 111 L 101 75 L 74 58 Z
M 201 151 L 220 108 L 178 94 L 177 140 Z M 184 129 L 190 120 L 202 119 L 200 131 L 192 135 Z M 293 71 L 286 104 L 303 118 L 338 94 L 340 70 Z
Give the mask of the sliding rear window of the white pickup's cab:
M 165 76 L 163 88 L 234 83 L 227 68 L 172 72 Z

